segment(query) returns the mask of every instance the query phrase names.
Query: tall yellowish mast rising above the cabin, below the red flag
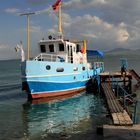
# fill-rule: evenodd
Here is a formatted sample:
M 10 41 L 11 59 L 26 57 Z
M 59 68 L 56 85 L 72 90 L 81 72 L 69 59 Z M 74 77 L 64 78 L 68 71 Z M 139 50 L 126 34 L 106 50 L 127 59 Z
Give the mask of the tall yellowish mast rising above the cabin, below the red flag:
M 62 33 L 62 11 L 61 11 L 61 5 L 58 9 L 58 33 L 60 34 L 60 37 L 63 37 Z

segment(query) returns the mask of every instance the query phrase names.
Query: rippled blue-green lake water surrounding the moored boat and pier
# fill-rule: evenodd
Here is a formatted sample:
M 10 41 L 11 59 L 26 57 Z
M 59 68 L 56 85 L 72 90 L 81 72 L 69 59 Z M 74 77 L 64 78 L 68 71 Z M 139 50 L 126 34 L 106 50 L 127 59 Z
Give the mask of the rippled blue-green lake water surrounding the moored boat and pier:
M 106 56 L 105 69 L 120 70 L 119 58 Z M 129 56 L 128 63 L 140 74 L 139 58 Z M 105 101 L 94 93 L 27 101 L 21 91 L 20 61 L 0 61 L 0 140 L 103 139 L 96 135 L 96 127 L 111 123 L 107 116 Z M 137 122 L 139 118 L 137 111 Z

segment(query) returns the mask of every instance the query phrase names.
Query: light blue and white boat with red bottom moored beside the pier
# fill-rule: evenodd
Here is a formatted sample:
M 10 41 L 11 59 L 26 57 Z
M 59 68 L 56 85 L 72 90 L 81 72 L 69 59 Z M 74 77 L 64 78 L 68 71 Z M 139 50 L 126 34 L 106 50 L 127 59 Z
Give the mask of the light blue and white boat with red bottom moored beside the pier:
M 33 99 L 85 90 L 104 70 L 103 62 L 87 62 L 86 48 L 85 40 L 69 41 L 62 35 L 40 40 L 39 55 L 22 61 L 23 89 Z

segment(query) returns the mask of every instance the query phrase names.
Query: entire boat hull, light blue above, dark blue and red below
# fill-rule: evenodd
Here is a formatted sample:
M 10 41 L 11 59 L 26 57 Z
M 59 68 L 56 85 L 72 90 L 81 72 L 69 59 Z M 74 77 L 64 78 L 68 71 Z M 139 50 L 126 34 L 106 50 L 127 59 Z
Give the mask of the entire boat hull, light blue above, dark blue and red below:
M 47 71 L 46 65 L 52 68 Z M 56 72 L 63 67 L 64 72 Z M 78 71 L 73 71 L 74 68 Z M 84 67 L 84 70 L 83 70 Z M 100 73 L 96 70 L 96 74 Z M 94 70 L 82 64 L 65 64 L 50 62 L 26 61 L 22 64 L 22 87 L 32 99 L 73 94 L 86 90 Z

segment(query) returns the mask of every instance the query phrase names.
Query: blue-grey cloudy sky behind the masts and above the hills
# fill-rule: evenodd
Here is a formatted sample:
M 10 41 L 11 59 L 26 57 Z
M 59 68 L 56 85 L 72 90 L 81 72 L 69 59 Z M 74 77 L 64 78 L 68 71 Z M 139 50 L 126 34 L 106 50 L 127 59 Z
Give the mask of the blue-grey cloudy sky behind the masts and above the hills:
M 18 58 L 14 47 L 26 49 L 26 18 L 18 14 L 47 9 L 56 0 L 1 0 L 0 59 Z M 140 0 L 62 0 L 66 38 L 87 39 L 88 49 L 140 49 Z M 32 54 L 41 38 L 57 31 L 53 11 L 30 20 Z

